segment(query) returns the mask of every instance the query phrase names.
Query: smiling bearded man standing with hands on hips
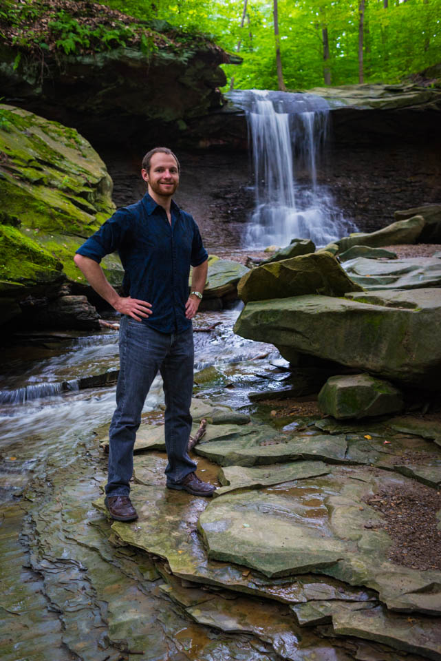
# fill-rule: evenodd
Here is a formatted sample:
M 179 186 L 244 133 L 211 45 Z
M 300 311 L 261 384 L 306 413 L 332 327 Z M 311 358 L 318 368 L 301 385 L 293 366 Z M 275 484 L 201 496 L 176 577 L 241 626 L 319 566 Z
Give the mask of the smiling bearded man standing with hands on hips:
M 144 198 L 118 209 L 74 258 L 94 290 L 122 315 L 105 499 L 109 515 L 116 521 L 138 518 L 129 498 L 133 444 L 158 370 L 166 404 L 166 485 L 197 496 L 211 496 L 215 490 L 196 476 L 196 464 L 186 452 L 193 390 L 191 319 L 204 291 L 208 254 L 192 216 L 172 200 L 180 176 L 175 154 L 166 147 L 151 149 L 142 160 L 141 175 L 147 182 Z M 116 249 L 125 269 L 122 296 L 109 284 L 99 264 Z

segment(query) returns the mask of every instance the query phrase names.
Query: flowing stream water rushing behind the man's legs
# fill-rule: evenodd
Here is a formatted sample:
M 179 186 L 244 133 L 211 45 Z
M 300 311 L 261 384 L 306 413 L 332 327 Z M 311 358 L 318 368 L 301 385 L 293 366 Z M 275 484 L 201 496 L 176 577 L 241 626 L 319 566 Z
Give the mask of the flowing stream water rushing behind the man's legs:
M 195 370 L 219 364 L 235 366 L 239 374 L 240 366 L 248 366 L 255 357 L 268 352 L 277 357 L 274 347 L 234 335 L 232 328 L 238 314 L 236 310 L 199 315 L 196 324 L 221 323 L 212 333 L 195 333 Z M 91 430 L 107 425 L 115 408 L 115 385 L 80 388 L 78 384 L 84 377 L 105 377 L 118 369 L 118 331 L 72 333 L 70 339 L 49 345 L 42 338 L 42 344 L 45 346 L 8 348 L 7 355 L 3 355 L 0 452 L 4 462 L 0 483 L 6 498 L 20 493 L 23 483 L 32 479 L 34 471 L 49 457 L 52 463 L 58 458 L 55 468 L 75 461 L 76 445 Z M 248 371 L 262 371 L 259 368 L 263 363 L 268 365 L 267 360 L 259 359 L 259 367 Z M 235 377 L 236 384 L 241 381 Z M 222 397 L 222 388 L 218 390 Z M 235 405 L 248 401 L 246 391 L 240 388 L 230 397 Z M 144 414 L 163 406 L 162 379 L 158 375 Z

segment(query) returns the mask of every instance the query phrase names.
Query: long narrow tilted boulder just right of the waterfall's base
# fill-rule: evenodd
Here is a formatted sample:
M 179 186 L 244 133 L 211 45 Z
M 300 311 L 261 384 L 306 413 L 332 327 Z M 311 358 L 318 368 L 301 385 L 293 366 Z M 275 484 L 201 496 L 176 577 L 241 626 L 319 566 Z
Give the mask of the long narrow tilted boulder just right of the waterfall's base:
M 414 216 L 408 220 L 397 220 L 376 232 L 357 232 L 336 241 L 340 252 L 345 252 L 352 246 L 369 246 L 380 248 L 398 244 L 416 243 L 426 222 L 422 216 Z

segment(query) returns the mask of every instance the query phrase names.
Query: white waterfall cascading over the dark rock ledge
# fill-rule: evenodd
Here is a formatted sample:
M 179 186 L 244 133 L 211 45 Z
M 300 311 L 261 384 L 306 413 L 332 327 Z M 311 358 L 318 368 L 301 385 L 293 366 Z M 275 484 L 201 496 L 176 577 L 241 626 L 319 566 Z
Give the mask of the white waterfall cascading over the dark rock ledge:
M 356 231 L 317 183 L 317 162 L 327 138 L 329 108 L 314 94 L 237 90 L 228 98 L 246 112 L 255 175 L 255 210 L 248 248 L 288 245 L 310 238 L 316 246 Z

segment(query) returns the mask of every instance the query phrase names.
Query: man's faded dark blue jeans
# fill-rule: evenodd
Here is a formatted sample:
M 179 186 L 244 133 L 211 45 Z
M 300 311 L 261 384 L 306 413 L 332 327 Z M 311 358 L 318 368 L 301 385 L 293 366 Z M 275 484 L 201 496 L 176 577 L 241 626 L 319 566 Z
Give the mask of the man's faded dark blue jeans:
M 191 431 L 193 363 L 193 328 L 178 334 L 158 333 L 136 319 L 122 317 L 116 411 L 109 430 L 107 496 L 127 496 L 130 492 L 133 445 L 144 401 L 158 370 L 164 381 L 166 406 L 167 484 L 180 482 L 195 470 L 196 464 L 186 451 Z

